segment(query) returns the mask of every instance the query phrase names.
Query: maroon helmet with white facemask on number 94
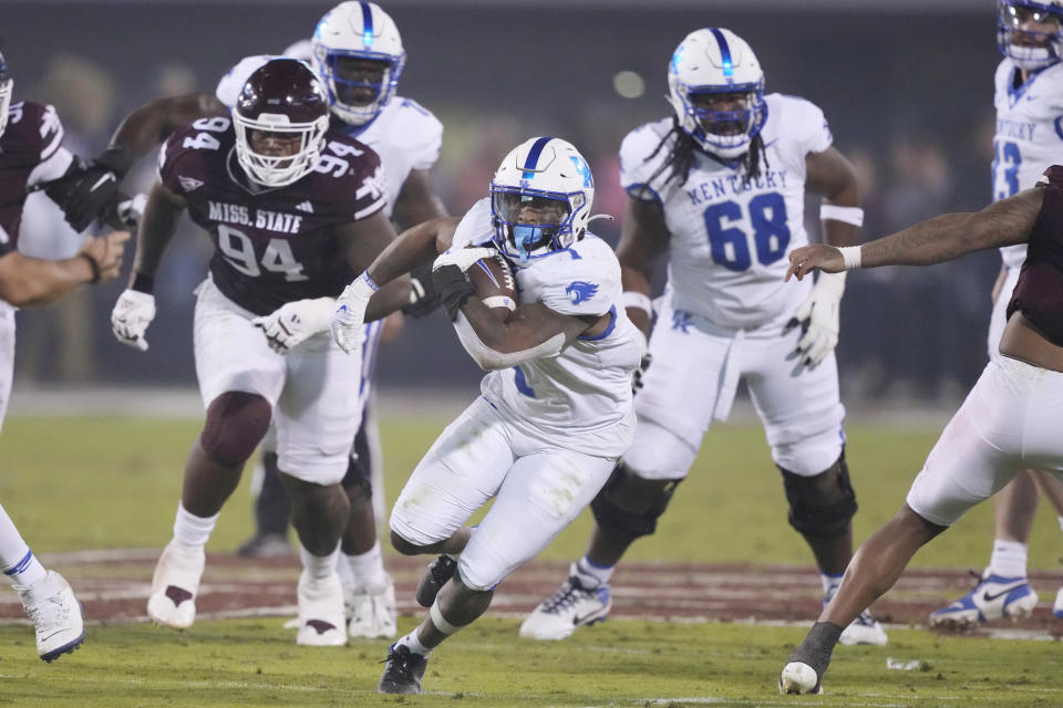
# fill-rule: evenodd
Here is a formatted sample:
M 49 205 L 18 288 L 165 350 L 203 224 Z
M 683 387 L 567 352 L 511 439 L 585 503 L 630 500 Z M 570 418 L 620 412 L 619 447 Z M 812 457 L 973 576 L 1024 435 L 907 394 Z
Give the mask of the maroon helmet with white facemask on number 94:
M 247 77 L 233 106 L 233 127 L 236 157 L 248 176 L 265 187 L 283 187 L 318 164 L 329 96 L 306 64 L 275 59 Z

